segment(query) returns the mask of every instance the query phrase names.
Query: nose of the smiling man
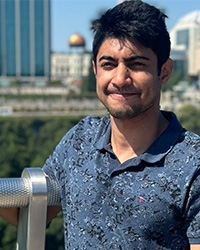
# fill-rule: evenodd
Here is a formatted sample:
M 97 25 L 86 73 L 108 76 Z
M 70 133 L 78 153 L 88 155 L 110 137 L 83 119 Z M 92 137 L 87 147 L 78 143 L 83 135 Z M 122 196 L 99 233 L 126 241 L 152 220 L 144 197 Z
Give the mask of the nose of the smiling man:
M 118 65 L 113 73 L 114 73 L 114 77 L 112 79 L 113 86 L 122 88 L 132 83 L 129 69 L 125 65 L 123 64 Z

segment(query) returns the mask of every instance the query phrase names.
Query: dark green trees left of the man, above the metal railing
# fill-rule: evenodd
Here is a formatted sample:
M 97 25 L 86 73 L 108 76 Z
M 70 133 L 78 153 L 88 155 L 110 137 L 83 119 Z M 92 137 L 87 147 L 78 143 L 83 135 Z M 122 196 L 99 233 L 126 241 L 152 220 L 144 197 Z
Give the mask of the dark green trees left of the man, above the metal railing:
M 1 118 L 0 177 L 18 177 L 26 167 L 40 167 L 65 132 L 80 117 Z

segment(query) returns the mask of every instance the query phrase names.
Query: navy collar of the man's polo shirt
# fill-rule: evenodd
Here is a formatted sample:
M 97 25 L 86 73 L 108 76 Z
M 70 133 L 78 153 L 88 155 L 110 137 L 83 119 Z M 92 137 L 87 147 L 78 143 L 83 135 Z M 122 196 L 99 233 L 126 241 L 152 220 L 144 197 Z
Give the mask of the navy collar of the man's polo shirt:
M 143 154 L 136 157 L 140 158 L 139 162 L 141 160 L 149 163 L 160 161 L 172 149 L 182 132 L 183 128 L 173 112 L 162 111 L 162 114 L 169 121 L 169 125 Z M 104 125 L 106 126 L 102 128 L 101 135 L 98 136 L 98 141 L 94 146 L 99 150 L 110 151 L 110 119 L 107 119 Z

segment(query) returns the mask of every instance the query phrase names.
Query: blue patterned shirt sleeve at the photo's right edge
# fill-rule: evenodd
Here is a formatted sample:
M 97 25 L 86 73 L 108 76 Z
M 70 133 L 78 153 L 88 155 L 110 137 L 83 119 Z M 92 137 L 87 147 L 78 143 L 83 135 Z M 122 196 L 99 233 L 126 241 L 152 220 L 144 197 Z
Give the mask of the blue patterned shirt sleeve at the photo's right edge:
M 190 244 L 200 244 L 200 169 L 194 175 L 186 205 L 187 237 Z

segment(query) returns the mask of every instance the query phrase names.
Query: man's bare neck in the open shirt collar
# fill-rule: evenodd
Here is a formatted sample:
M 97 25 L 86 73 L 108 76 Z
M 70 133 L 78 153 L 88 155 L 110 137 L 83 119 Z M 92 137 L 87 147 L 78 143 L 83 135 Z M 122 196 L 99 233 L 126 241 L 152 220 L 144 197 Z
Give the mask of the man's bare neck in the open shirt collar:
M 165 130 L 168 121 L 160 111 L 120 120 L 111 116 L 111 145 L 119 161 L 145 152 Z

